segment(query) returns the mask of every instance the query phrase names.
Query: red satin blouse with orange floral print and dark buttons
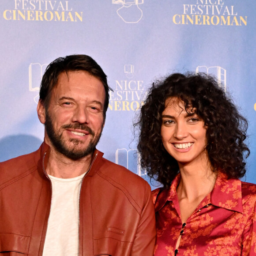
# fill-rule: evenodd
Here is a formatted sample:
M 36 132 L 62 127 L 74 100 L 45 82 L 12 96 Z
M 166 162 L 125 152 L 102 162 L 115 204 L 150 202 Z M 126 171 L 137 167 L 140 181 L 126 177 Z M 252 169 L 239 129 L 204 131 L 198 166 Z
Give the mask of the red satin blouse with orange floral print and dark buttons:
M 154 256 L 256 256 L 256 184 L 227 180 L 219 173 L 212 192 L 182 223 L 176 193 L 180 178 L 178 174 L 169 189 L 152 191 L 157 227 Z

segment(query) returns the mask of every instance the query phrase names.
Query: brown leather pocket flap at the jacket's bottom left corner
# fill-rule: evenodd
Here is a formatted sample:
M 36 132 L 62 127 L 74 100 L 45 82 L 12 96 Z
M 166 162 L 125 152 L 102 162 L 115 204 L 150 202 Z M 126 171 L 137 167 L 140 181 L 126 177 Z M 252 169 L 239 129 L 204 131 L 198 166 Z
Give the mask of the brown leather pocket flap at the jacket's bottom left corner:
M 0 233 L 0 252 L 28 254 L 30 237 L 15 233 Z

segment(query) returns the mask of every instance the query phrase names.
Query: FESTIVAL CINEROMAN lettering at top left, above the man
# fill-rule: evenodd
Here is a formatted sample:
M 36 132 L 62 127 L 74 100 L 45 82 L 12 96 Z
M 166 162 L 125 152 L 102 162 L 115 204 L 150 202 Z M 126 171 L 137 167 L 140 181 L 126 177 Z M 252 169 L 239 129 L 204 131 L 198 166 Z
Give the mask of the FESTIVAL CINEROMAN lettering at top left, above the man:
M 83 12 L 73 11 L 69 1 L 14 0 L 13 10 L 4 10 L 6 20 L 83 21 Z

